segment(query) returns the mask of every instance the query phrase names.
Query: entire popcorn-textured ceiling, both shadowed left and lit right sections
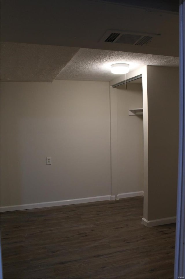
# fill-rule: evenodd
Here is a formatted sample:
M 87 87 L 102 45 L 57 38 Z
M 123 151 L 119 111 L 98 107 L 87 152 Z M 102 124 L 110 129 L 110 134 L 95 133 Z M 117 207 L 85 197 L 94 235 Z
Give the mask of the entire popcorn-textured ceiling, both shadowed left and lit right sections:
M 110 81 L 110 65 L 128 63 L 129 71 L 143 65 L 178 67 L 178 57 L 89 48 L 1 43 L 1 81 Z

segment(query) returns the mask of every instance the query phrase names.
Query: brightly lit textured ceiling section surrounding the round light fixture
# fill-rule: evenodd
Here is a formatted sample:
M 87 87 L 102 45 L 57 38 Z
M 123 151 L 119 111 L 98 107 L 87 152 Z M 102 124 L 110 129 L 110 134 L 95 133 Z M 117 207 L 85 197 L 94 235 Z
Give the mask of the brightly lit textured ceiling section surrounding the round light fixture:
M 133 71 L 143 65 L 178 67 L 179 58 L 80 48 L 56 79 L 110 81 L 119 76 L 111 73 L 110 65 L 121 62 L 129 64 L 129 71 Z

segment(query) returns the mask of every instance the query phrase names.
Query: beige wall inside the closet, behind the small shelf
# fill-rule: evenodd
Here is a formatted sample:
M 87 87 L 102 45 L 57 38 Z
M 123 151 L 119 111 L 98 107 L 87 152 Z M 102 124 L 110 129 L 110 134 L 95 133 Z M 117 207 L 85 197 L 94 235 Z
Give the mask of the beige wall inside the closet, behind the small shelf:
M 143 107 L 142 84 L 117 87 L 118 193 L 143 191 L 143 116 L 129 109 Z

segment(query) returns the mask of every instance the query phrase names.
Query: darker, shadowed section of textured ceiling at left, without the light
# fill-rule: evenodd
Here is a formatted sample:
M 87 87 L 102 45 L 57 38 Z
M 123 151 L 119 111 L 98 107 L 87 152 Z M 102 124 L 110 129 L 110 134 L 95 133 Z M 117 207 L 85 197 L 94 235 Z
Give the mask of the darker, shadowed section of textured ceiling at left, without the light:
M 1 81 L 52 82 L 78 50 L 75 47 L 1 43 Z

